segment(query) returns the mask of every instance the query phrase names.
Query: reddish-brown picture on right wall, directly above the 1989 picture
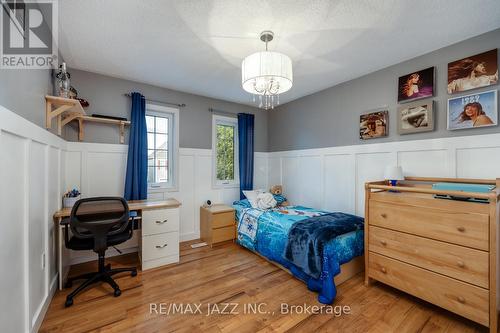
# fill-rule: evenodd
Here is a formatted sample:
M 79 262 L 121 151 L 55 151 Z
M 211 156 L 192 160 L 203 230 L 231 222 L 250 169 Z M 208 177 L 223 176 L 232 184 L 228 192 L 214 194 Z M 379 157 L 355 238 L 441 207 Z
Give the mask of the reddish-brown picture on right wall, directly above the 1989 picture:
M 448 94 L 487 87 L 497 82 L 497 49 L 448 64 Z

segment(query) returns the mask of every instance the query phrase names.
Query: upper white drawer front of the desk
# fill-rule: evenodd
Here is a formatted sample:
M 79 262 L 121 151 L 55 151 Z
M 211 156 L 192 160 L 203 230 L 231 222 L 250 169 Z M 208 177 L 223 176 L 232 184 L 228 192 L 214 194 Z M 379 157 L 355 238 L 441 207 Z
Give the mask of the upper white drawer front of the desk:
M 142 235 L 179 231 L 179 209 L 154 209 L 142 212 Z

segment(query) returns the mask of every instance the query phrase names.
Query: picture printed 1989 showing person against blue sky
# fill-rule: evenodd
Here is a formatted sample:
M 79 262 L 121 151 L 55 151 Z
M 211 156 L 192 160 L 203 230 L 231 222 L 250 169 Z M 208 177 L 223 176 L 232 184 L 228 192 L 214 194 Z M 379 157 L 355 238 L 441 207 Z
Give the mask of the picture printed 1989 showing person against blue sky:
M 496 126 L 497 91 L 490 90 L 448 99 L 447 118 L 449 130 Z

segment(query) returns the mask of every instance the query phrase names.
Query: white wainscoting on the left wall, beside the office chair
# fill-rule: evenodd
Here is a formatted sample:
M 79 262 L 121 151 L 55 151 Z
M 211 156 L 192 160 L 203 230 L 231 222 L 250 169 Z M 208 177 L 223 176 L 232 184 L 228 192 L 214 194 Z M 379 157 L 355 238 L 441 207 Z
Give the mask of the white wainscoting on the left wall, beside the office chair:
M 52 215 L 66 141 L 0 106 L 0 323 L 37 332 L 56 290 Z

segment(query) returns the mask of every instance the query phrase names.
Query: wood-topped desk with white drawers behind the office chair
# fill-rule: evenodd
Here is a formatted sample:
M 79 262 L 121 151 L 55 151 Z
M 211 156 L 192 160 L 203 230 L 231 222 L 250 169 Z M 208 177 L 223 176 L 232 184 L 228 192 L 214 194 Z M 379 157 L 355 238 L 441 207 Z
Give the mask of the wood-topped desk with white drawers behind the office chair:
M 128 205 L 131 212 L 137 212 L 137 219 L 141 225 L 139 257 L 142 269 L 179 261 L 179 207 L 181 203 L 175 199 L 138 200 L 129 201 Z M 56 237 L 59 289 L 63 289 L 70 268 L 70 250 L 64 244 L 64 227 L 61 226 L 61 221 L 70 215 L 71 208 L 63 208 L 54 213 L 54 222 L 58 226 Z

